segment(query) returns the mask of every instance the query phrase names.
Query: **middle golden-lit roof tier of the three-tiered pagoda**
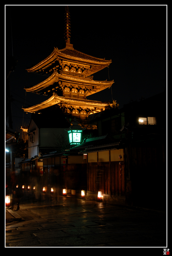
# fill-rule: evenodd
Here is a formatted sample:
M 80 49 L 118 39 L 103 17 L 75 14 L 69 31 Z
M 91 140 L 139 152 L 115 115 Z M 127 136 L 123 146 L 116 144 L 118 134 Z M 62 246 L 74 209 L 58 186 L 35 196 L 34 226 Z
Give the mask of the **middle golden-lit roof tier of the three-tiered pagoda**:
M 56 71 L 49 76 L 46 80 L 43 82 L 36 84 L 30 88 L 25 88 L 26 92 L 39 92 L 46 87 L 49 87 L 51 84 L 54 84 L 56 82 L 61 82 L 61 83 L 69 83 L 70 85 L 74 87 L 91 87 L 94 88 L 93 91 L 91 91 L 91 94 L 100 92 L 108 87 L 110 87 L 114 81 L 95 81 L 93 79 L 87 79 L 87 78 L 80 78 L 80 77 L 75 77 L 75 76 L 66 76 L 62 74 L 58 74 Z M 58 85 L 58 84 L 57 84 Z

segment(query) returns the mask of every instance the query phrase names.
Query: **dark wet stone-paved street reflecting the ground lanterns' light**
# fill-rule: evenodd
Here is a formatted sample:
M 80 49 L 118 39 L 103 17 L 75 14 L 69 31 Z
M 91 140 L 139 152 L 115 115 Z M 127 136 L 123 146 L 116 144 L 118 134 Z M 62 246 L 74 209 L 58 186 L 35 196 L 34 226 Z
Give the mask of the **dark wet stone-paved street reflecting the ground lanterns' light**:
M 5 247 L 167 248 L 163 211 L 43 193 L 39 202 L 25 193 L 16 208 L 6 207 Z

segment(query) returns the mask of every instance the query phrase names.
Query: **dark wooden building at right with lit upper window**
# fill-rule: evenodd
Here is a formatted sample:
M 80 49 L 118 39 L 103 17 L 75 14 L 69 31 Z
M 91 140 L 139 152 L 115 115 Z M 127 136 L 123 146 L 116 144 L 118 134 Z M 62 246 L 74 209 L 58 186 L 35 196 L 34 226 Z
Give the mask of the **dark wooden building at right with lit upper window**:
M 87 198 L 166 209 L 165 106 L 163 92 L 97 115 L 100 136 L 75 147 L 87 154 Z

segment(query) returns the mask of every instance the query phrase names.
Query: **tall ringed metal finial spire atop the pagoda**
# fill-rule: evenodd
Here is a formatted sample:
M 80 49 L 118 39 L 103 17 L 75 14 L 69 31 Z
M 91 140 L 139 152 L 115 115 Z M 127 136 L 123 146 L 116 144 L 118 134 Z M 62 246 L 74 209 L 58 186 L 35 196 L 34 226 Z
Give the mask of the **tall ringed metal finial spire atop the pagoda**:
M 70 44 L 71 38 L 71 21 L 70 21 L 70 12 L 69 6 L 65 6 L 65 14 L 64 14 L 64 39 L 66 42 L 66 47 L 73 48 L 73 45 Z

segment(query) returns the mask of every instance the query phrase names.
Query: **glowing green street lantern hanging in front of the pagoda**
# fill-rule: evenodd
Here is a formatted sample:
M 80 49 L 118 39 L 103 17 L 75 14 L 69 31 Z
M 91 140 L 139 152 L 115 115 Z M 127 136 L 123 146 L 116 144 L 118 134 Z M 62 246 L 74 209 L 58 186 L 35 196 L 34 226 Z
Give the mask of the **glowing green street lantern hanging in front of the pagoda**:
M 72 146 L 76 146 L 81 143 L 82 131 L 84 129 L 79 125 L 79 122 L 74 118 L 72 125 L 66 130 L 69 134 L 69 143 Z

